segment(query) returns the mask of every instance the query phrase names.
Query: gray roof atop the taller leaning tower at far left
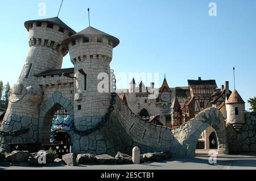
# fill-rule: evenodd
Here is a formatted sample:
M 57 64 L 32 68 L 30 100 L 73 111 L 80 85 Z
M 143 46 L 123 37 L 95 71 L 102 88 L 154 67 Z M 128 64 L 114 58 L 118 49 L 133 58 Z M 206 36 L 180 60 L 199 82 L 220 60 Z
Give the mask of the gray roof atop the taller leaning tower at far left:
M 46 23 L 52 23 L 52 24 L 57 24 L 60 27 L 70 31 L 72 35 L 76 34 L 76 31 L 72 30 L 67 24 L 65 24 L 60 18 L 54 17 L 54 18 L 47 18 L 47 19 L 38 19 L 38 20 L 29 20 L 24 23 L 24 26 L 26 27 L 27 31 L 30 30 L 30 24 L 35 23 L 35 22 L 46 22 Z

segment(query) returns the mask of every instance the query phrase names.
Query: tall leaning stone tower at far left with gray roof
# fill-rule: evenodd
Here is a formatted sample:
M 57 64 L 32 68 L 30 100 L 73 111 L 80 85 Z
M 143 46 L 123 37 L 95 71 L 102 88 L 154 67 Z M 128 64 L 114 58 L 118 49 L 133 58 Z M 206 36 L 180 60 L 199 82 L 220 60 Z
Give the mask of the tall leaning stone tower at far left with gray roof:
M 61 42 L 76 32 L 69 28 L 59 18 L 30 20 L 24 23 L 29 32 L 30 50 L 24 63 L 22 73 L 10 93 L 9 106 L 3 119 L 2 131 L 29 128 L 31 140 L 37 140 L 37 134 L 32 133 L 32 125 L 38 125 L 39 105 L 42 102 L 43 90 L 37 84 L 36 74 L 51 69 L 60 69 L 63 56 L 68 49 L 61 46 Z M 15 142 L 22 139 L 15 138 Z M 9 136 L 6 142 L 11 142 Z M 23 140 L 24 141 L 24 140 Z

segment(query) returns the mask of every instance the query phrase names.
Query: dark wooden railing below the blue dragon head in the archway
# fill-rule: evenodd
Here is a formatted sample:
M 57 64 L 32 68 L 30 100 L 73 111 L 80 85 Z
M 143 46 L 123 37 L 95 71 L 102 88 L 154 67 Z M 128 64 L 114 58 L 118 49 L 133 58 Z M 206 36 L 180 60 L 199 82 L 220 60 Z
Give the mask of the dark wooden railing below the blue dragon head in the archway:
M 71 147 L 73 146 L 73 144 L 52 144 L 42 146 L 44 150 L 56 150 L 57 156 L 61 158 L 62 155 L 71 153 Z

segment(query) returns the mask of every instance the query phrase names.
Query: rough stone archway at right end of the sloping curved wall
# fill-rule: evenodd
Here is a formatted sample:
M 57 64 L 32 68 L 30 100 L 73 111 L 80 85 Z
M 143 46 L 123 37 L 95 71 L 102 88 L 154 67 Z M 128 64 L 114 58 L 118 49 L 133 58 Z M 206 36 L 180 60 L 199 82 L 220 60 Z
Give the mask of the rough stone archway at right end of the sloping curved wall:
M 194 119 L 173 131 L 174 137 L 176 138 L 176 144 L 174 148 L 171 149 L 172 154 L 195 155 L 196 145 L 200 134 L 210 126 L 212 126 L 216 132 L 218 154 L 228 154 L 229 149 L 224 117 L 216 108 L 208 108 L 201 111 Z

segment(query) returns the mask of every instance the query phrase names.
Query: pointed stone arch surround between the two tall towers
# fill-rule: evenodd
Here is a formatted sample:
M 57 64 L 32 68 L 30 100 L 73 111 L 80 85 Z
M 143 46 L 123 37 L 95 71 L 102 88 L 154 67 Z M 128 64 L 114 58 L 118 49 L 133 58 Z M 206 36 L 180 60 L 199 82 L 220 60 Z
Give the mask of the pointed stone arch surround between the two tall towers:
M 59 91 L 54 92 L 52 97 L 43 102 L 42 105 L 39 110 L 38 141 L 42 144 L 48 144 L 52 124 L 52 112 L 61 106 L 69 112 L 71 120 L 74 120 L 74 110 L 72 102 L 64 98 Z

